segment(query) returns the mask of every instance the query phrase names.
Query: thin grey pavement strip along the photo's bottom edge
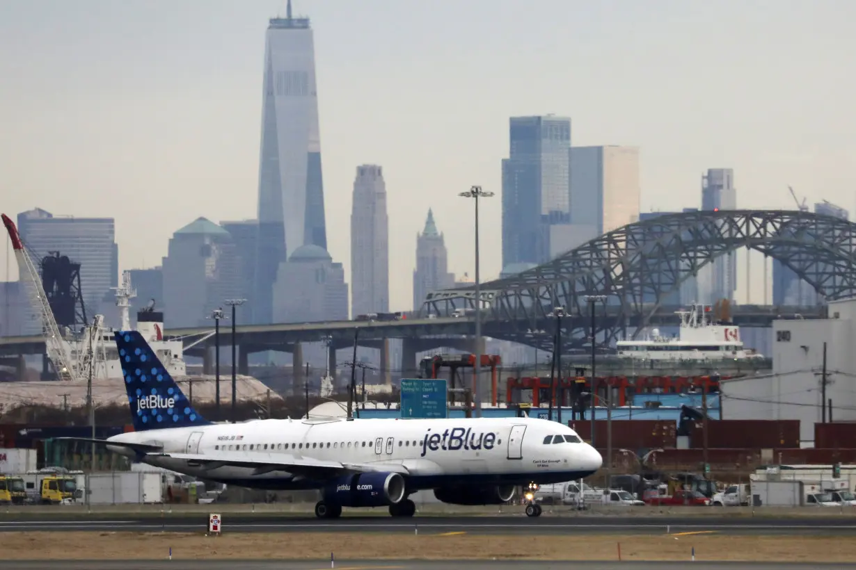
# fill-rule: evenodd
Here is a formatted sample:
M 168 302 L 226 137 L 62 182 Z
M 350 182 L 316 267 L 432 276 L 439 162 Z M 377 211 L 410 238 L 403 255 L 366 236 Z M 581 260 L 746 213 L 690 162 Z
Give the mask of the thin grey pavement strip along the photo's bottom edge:
M 853 570 L 848 564 L 693 562 L 704 570 Z M 0 561 L 0 570 L 327 570 L 330 561 Z M 687 562 L 576 562 L 576 561 L 336 561 L 336 570 L 682 570 Z

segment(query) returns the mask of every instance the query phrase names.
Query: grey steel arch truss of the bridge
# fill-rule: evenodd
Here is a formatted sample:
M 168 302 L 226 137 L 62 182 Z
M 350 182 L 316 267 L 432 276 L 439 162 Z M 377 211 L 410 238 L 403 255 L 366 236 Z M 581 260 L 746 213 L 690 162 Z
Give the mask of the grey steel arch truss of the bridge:
M 496 338 L 546 345 L 522 337 L 539 329 L 555 330 L 550 313 L 562 307 L 568 314 L 562 318 L 566 342 L 569 348 L 579 347 L 591 334 L 586 296 L 597 295 L 607 298 L 604 316 L 614 317 L 596 320 L 596 336 L 611 344 L 626 338 L 631 321 L 637 331 L 646 326 L 663 299 L 699 269 L 744 247 L 782 261 L 827 301 L 856 297 L 856 224 L 847 220 L 788 210 L 663 214 L 481 285 L 485 334 L 505 331 Z M 421 310 L 443 315 L 475 306 L 470 285 L 432 292 Z

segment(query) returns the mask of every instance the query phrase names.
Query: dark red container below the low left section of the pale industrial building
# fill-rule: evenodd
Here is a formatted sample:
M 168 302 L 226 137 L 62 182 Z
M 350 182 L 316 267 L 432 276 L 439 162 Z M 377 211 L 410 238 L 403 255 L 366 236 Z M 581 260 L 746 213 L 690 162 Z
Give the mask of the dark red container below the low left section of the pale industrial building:
M 693 432 L 693 448 L 704 447 L 702 426 Z M 800 420 L 709 420 L 708 426 L 708 449 L 800 448 Z

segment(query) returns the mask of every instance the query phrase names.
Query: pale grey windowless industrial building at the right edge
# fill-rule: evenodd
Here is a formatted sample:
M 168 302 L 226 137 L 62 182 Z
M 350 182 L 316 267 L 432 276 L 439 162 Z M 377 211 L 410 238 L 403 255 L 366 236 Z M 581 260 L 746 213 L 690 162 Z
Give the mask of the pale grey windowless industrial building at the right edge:
M 830 301 L 829 319 L 775 320 L 772 373 L 722 381 L 722 418 L 800 420 L 803 447 L 816 422 L 856 421 L 854 335 L 856 298 Z

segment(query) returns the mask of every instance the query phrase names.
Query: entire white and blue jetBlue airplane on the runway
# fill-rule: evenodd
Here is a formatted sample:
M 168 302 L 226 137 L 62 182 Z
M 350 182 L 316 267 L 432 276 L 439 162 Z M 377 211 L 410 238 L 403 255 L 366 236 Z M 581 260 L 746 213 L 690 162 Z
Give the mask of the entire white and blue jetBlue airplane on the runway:
M 502 504 L 520 485 L 580 479 L 601 466 L 597 450 L 573 430 L 534 418 L 212 423 L 187 402 L 140 332 L 115 336 L 134 432 L 66 439 L 227 485 L 318 489 L 319 518 L 336 518 L 342 507 L 413 516 L 407 497 L 424 489 L 443 502 Z M 538 516 L 540 508 L 530 504 L 526 514 Z

